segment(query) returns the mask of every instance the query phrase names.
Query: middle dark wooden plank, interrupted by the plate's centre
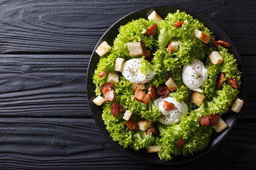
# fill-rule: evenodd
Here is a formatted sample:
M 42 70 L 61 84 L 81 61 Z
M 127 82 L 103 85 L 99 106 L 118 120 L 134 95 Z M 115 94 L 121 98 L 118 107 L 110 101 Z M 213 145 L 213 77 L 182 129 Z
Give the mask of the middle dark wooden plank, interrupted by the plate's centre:
M 1 55 L 0 115 L 92 118 L 86 94 L 90 55 Z M 240 118 L 256 119 L 255 56 L 242 56 L 245 106 Z

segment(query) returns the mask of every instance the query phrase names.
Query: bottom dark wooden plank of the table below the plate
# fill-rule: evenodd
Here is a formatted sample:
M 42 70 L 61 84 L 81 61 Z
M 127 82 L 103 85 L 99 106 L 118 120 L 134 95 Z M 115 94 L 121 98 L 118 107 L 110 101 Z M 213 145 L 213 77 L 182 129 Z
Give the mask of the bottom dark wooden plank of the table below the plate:
M 254 121 L 247 121 L 245 125 L 244 120 L 238 120 L 220 145 L 205 156 L 183 166 L 161 166 L 129 157 L 102 135 L 92 119 L 1 118 L 0 125 L 0 169 L 256 167 L 256 138 L 252 136 L 256 134 Z

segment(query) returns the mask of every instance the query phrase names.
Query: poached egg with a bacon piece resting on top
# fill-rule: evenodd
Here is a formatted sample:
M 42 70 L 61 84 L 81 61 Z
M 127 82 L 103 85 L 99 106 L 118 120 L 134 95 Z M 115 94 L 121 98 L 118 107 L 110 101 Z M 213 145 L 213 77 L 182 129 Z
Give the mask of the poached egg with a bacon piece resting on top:
M 174 110 L 164 111 L 164 101 L 168 101 L 174 104 Z M 181 101 L 179 103 L 173 97 L 166 98 L 157 98 L 154 100 L 154 106 L 158 106 L 161 113 L 163 113 L 162 117 L 159 119 L 159 122 L 164 125 L 174 125 L 181 121 L 181 118 L 185 117 L 188 113 L 188 106 L 185 102 Z

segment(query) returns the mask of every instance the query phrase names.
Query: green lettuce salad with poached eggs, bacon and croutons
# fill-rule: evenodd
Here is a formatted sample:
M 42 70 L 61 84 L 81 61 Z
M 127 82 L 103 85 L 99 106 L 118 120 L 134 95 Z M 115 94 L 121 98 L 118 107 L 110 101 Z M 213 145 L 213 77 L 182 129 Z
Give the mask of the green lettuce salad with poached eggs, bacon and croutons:
M 160 159 L 193 154 L 239 112 L 241 72 L 203 23 L 176 11 L 153 11 L 119 28 L 112 47 L 102 42 L 93 83 L 110 136 L 124 148 L 157 152 Z

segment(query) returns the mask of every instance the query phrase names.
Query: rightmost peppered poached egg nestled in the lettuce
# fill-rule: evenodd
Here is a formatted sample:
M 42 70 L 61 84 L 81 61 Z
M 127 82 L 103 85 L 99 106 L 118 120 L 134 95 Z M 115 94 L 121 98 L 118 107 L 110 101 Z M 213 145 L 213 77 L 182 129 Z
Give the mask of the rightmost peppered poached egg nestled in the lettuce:
M 207 69 L 203 62 L 198 59 L 193 60 L 191 64 L 184 65 L 182 69 L 182 81 L 191 90 L 202 92 L 201 86 L 207 79 Z

